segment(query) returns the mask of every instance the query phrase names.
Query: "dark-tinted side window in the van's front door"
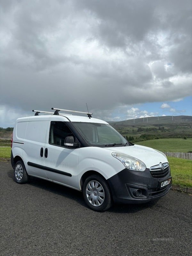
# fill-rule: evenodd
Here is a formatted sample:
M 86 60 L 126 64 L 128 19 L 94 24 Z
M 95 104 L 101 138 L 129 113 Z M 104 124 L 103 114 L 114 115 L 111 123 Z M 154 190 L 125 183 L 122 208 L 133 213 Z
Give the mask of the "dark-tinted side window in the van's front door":
M 75 136 L 64 122 L 51 122 L 49 143 L 57 146 L 64 147 L 65 138 L 68 136 Z

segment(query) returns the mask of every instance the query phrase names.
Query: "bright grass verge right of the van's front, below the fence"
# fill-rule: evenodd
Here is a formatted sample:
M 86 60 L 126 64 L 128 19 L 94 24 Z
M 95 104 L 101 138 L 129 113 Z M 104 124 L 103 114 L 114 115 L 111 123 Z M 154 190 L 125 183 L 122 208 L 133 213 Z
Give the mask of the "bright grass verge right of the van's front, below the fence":
M 192 188 L 192 161 L 168 156 L 172 184 Z

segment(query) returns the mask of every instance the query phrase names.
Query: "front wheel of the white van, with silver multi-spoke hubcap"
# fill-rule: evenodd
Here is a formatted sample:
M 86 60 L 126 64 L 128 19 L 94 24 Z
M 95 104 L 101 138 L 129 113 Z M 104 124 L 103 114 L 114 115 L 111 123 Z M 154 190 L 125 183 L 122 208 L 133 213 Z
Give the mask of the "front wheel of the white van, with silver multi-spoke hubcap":
M 85 203 L 94 211 L 104 212 L 112 205 L 112 196 L 108 183 L 99 175 L 89 176 L 83 185 Z

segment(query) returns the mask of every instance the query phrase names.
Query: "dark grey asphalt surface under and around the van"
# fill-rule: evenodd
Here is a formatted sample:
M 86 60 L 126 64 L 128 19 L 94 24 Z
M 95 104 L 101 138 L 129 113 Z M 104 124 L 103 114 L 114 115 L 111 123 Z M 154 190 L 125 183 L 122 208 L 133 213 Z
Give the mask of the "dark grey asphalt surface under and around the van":
M 192 196 L 87 208 L 81 192 L 31 178 L 14 181 L 0 162 L 0 255 L 192 255 Z

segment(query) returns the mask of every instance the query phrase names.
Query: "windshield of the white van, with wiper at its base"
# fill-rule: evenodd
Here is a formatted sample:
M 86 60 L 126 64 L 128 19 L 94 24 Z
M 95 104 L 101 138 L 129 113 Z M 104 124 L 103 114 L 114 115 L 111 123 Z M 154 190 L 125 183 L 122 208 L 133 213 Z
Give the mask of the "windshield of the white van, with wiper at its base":
M 127 140 L 109 124 L 84 122 L 73 122 L 73 124 L 82 137 L 93 146 L 125 146 L 127 143 Z

